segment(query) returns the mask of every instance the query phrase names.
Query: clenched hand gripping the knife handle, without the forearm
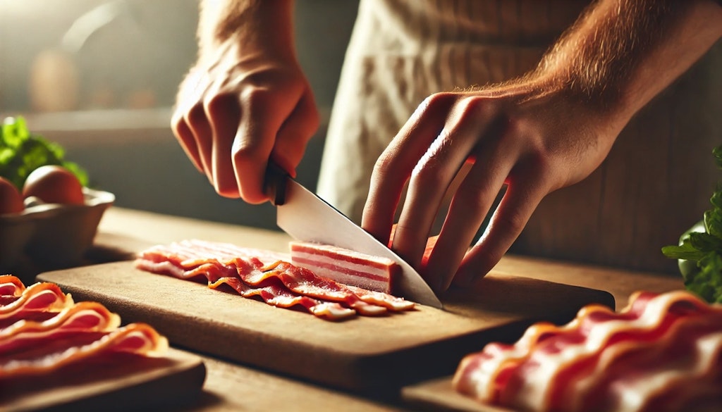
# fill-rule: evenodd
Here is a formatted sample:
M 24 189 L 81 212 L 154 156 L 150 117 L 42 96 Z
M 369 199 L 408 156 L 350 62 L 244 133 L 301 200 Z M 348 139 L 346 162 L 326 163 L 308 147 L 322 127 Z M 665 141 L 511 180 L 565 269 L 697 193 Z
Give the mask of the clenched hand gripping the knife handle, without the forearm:
M 232 33 L 226 38 L 206 42 L 181 83 L 172 119 L 179 143 L 217 193 L 248 203 L 268 200 L 263 185 L 271 157 L 295 175 L 318 128 L 313 92 L 292 40 L 274 38 L 284 31 L 274 30 L 274 13 L 253 12 L 266 35 L 240 25 L 225 30 Z M 258 20 L 264 17 L 267 24 Z

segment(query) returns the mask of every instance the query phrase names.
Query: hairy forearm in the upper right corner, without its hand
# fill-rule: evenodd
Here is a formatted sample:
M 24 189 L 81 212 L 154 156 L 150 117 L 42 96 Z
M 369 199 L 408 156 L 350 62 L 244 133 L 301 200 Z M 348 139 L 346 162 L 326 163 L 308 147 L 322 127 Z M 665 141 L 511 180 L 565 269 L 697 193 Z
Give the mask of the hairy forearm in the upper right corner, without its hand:
M 625 123 L 721 36 L 716 1 L 600 0 L 536 74 Z

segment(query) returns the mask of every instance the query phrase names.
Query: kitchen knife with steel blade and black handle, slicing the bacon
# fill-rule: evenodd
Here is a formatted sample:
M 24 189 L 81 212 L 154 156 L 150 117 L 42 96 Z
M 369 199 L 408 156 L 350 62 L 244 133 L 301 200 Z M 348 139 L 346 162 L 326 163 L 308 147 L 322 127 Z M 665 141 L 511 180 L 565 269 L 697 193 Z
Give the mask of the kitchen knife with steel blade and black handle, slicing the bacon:
M 266 170 L 266 194 L 276 206 L 276 223 L 297 240 L 343 247 L 367 255 L 389 258 L 401 267 L 394 279 L 395 293 L 419 304 L 442 309 L 430 286 L 409 263 L 393 253 L 334 206 L 316 196 L 274 162 Z

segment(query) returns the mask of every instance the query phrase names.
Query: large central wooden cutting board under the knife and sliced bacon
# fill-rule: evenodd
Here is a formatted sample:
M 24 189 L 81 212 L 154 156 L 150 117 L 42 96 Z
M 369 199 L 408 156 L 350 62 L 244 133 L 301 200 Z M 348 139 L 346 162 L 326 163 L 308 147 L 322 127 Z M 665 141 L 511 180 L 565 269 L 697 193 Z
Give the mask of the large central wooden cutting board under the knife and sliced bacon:
M 383 317 L 321 320 L 205 284 L 147 273 L 132 262 L 41 273 L 74 299 L 103 302 L 153 325 L 175 345 L 347 390 L 391 390 L 453 373 L 489 341 L 516 341 L 537 320 L 565 323 L 607 292 L 490 273 L 477 288 Z

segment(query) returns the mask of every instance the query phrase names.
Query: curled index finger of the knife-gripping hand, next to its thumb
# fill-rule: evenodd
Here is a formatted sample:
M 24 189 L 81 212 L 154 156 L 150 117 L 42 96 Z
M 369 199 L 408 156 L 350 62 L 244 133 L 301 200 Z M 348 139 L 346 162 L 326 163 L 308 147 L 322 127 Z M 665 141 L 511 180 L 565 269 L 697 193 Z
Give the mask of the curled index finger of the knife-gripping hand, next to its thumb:
M 251 89 L 241 96 L 238 133 L 232 144 L 232 165 L 238 193 L 248 203 L 268 200 L 264 175 L 277 133 L 297 100 L 269 89 Z

